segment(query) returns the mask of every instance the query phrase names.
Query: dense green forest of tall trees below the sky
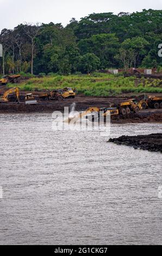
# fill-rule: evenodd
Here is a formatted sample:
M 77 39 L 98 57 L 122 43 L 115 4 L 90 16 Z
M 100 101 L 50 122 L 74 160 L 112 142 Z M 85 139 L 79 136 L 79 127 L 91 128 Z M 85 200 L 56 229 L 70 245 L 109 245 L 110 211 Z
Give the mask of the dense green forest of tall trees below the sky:
M 97 69 L 162 66 L 162 10 L 90 14 L 61 23 L 4 28 L 0 73 L 78 74 Z

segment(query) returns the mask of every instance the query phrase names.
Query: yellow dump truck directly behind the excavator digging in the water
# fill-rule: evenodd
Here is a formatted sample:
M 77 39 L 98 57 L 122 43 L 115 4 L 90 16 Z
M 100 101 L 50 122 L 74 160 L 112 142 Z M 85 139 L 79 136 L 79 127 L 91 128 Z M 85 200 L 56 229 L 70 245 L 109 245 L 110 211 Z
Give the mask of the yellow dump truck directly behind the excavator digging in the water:
M 119 109 L 119 113 L 122 115 L 130 114 L 130 112 L 138 114 L 140 109 L 142 109 L 141 103 L 136 101 L 136 99 L 130 99 L 126 102 L 121 102 L 113 105 Z

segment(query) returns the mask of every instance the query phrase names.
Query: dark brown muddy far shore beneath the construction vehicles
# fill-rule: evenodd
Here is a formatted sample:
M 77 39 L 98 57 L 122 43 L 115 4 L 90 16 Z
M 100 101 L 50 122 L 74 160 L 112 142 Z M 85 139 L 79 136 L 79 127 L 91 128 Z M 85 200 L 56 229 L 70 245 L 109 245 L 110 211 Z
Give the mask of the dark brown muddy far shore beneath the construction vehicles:
M 27 93 L 27 92 L 26 92 Z M 35 95 L 38 96 L 38 95 Z M 75 99 L 66 99 L 63 101 L 38 101 L 36 105 L 25 105 L 23 97 L 21 103 L 8 102 L 0 103 L 0 113 L 29 113 L 29 112 L 53 112 L 64 111 L 64 107 L 70 107 L 76 103 L 77 111 L 84 111 L 86 108 L 109 107 L 113 103 L 126 101 L 131 97 L 141 97 L 141 95 L 121 95 L 111 97 L 88 97 L 76 96 Z M 159 95 L 160 96 L 160 95 Z M 111 122 L 115 124 L 122 123 L 145 123 L 162 122 L 162 109 L 147 109 L 140 111 L 139 114 L 130 113 L 129 115 L 114 115 Z

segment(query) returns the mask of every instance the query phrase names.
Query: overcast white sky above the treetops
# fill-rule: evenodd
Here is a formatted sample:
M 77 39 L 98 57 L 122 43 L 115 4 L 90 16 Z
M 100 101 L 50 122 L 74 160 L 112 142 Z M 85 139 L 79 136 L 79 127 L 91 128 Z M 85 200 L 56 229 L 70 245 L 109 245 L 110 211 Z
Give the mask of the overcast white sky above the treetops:
M 162 10 L 162 0 L 0 0 L 0 31 L 23 22 L 62 23 L 91 13 Z

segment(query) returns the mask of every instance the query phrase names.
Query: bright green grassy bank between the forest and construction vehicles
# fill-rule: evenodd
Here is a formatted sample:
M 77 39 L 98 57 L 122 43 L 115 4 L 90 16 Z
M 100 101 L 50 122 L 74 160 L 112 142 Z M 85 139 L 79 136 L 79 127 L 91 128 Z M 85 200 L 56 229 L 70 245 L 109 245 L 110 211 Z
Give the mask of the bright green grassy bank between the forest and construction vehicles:
M 8 84 L 13 87 L 13 84 Z M 122 75 L 93 74 L 70 76 L 33 77 L 18 84 L 21 90 L 53 90 L 57 88 L 76 88 L 77 94 L 86 96 L 111 96 L 122 93 L 162 93 L 159 79 L 123 77 Z

